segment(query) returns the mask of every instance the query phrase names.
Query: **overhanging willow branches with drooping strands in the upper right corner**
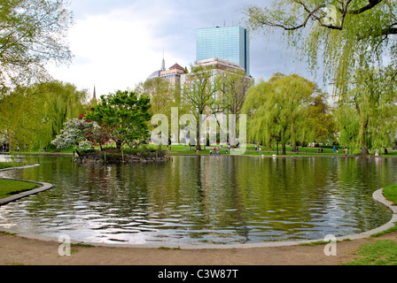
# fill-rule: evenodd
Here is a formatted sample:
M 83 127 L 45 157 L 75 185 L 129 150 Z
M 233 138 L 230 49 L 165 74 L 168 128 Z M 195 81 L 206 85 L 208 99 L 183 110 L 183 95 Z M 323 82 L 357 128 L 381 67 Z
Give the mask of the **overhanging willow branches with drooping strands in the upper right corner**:
M 391 57 L 396 66 L 396 13 L 396 2 L 389 0 L 284 0 L 245 9 L 249 27 L 265 33 L 278 28 L 312 70 L 323 65 L 324 78 L 336 80 L 340 89 L 365 64 Z

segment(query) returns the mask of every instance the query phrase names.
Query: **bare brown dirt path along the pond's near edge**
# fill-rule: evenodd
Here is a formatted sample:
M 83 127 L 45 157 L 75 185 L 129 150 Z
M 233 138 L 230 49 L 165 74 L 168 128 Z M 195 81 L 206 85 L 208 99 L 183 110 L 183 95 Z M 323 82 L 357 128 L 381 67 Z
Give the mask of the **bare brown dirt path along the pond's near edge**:
M 397 233 L 337 243 L 337 256 L 325 256 L 325 245 L 253 249 L 152 249 L 72 247 L 59 256 L 57 241 L 0 233 L 0 265 L 338 265 L 354 259 L 365 242 L 393 240 Z

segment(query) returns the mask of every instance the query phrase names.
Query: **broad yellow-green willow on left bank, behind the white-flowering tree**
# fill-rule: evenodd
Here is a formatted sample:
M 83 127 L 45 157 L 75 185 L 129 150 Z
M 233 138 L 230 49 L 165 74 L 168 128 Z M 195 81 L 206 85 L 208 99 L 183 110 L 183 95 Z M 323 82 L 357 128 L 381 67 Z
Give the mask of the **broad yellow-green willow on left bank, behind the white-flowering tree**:
M 47 147 L 67 119 L 88 108 L 85 90 L 60 81 L 15 88 L 0 104 L 0 140 L 11 149 Z

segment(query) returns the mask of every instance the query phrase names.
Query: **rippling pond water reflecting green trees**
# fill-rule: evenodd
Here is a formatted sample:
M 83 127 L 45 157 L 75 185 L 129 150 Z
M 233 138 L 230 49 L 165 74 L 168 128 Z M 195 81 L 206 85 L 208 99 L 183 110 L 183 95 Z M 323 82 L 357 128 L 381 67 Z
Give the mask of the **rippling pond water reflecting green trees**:
M 99 243 L 234 244 L 323 239 L 382 226 L 372 193 L 397 183 L 397 159 L 173 157 L 166 164 L 40 166 L 0 176 L 54 185 L 0 207 L 0 227 Z

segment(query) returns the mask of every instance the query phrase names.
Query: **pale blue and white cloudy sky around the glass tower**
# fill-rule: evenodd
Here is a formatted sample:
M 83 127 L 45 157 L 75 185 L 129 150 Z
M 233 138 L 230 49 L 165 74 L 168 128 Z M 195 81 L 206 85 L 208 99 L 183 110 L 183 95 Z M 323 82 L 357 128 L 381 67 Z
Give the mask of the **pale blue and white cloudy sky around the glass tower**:
M 206 27 L 245 27 L 244 8 L 268 5 L 269 0 L 70 0 L 74 26 L 68 32 L 74 60 L 48 67 L 56 80 L 86 88 L 97 96 L 135 88 L 164 58 L 166 67 L 189 67 L 196 60 L 196 30 Z M 298 73 L 318 81 L 307 65 L 277 36 L 252 33 L 251 74 L 269 80 L 273 73 Z M 320 80 L 322 81 L 322 80 Z M 322 86 L 320 86 L 322 87 Z

